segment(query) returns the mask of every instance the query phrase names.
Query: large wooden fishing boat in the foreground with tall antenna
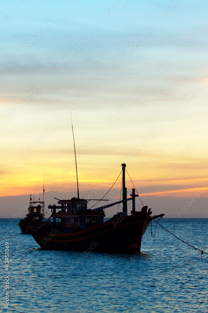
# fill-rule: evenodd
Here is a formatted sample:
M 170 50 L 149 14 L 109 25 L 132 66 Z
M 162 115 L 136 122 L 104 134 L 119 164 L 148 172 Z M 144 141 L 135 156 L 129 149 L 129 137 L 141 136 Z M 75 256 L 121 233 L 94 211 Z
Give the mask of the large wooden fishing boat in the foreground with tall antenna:
M 72 133 L 74 139 L 73 125 Z M 122 253 L 140 252 L 142 236 L 148 228 L 150 220 L 161 217 L 164 214 L 150 217 L 152 212 L 147 206 L 143 206 L 141 211 L 136 211 L 135 198 L 138 197 L 138 194 L 135 194 L 135 188 L 133 188 L 132 194 L 127 197 L 125 163 L 121 164 L 122 200 L 94 209 L 88 208 L 89 200 L 95 199 L 84 199 L 79 196 L 75 139 L 74 152 L 77 197 L 67 200 L 55 198 L 60 206 L 56 204 L 49 205 L 52 212 L 50 218 L 38 226 L 35 223 L 28 223 L 28 232 L 42 249 L 81 250 L 87 252 L 92 250 Z M 103 198 L 100 200 L 103 200 Z M 131 214 L 128 215 L 127 202 L 130 200 L 132 200 L 132 210 Z M 119 203 L 123 203 L 122 212 L 115 214 L 104 222 L 104 209 Z M 52 223 L 51 218 L 53 219 Z

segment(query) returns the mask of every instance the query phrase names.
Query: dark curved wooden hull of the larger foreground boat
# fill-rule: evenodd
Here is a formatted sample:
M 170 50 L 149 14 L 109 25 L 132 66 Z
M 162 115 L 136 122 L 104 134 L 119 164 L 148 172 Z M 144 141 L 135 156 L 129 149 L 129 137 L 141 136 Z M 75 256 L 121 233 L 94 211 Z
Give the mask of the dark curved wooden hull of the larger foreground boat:
M 142 236 L 149 225 L 147 210 L 130 216 L 118 215 L 100 225 L 75 233 L 59 233 L 28 224 L 28 231 L 43 249 L 132 253 L 140 251 Z M 48 228 L 48 229 L 47 229 Z

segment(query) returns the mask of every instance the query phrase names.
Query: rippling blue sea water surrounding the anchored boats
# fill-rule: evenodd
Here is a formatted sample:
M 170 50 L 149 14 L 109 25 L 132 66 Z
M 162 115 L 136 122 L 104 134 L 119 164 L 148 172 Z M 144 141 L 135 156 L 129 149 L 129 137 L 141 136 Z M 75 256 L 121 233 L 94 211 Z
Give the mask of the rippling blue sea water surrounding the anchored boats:
M 0 219 L 0 239 L 20 233 L 18 222 Z M 208 252 L 207 218 L 163 218 L 159 223 Z M 153 231 L 155 225 L 152 221 Z M 5 242 L 9 271 L 4 269 Z M 201 257 L 159 225 L 155 238 L 149 225 L 141 255 L 44 251 L 23 234 L 1 240 L 0 249 L 0 312 L 208 312 L 208 255 Z M 5 272 L 10 273 L 9 309 L 4 307 Z

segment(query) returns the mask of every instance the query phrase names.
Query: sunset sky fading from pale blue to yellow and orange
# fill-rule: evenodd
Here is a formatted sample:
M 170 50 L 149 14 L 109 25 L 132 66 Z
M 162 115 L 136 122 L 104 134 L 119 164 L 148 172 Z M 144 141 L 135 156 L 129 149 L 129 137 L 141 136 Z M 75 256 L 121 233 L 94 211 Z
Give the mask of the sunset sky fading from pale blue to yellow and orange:
M 46 192 L 76 196 L 71 112 L 80 197 L 126 163 L 147 205 L 195 198 L 206 216 L 206 0 L 2 0 L 0 14 L 2 199 L 44 174 Z

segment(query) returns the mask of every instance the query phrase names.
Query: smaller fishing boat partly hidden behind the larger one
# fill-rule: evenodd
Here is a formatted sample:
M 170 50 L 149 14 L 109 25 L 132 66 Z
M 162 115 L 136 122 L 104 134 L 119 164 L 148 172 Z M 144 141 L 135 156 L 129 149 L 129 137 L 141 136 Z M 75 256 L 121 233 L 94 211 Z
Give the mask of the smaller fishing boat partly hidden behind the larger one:
M 32 201 L 30 195 L 28 214 L 26 214 L 26 217 L 24 219 L 21 219 L 19 222 L 19 227 L 22 234 L 28 234 L 27 226 L 29 223 L 32 223 L 35 227 L 37 227 L 42 224 L 42 222 L 44 221 L 44 217 L 44 201 L 40 201 L 40 198 L 39 201 L 34 201 L 34 199 Z

